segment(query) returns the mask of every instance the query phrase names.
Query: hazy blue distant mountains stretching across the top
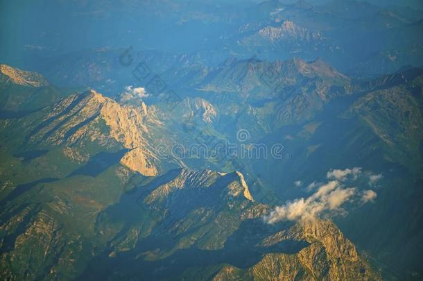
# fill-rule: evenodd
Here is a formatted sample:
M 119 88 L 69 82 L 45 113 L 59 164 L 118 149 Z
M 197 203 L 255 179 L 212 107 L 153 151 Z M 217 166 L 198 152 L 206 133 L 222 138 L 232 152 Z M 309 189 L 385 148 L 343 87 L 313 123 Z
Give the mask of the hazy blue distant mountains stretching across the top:
M 266 60 L 322 58 L 354 76 L 381 75 L 407 65 L 423 65 L 422 39 L 415 36 L 421 29 L 422 12 L 404 6 L 381 7 L 365 1 L 264 1 L 242 7 L 234 3 L 160 3 L 119 1 L 103 5 L 78 1 L 69 6 L 51 2 L 51 9 L 46 11 L 50 18 L 63 17 L 74 28 L 68 31 L 57 24 L 54 31 L 49 31 L 52 36 L 36 36 L 44 26 L 27 22 L 26 16 L 19 17 L 17 24 L 27 26 L 24 33 L 31 34 L 19 35 L 25 44 L 9 50 L 15 56 L 0 59 L 42 71 L 53 83 L 98 90 L 103 90 L 101 86 L 107 90 L 105 85 L 113 87 L 113 81 L 121 83 L 130 77 L 118 64 L 122 51 L 116 51 L 130 46 L 135 59 L 139 59 L 139 50 L 156 52 L 156 58 L 162 56 L 157 52 L 167 53 L 162 63 L 154 64 L 158 73 L 164 66 L 181 67 L 187 62 L 182 57 L 193 53 L 199 54 L 196 60 L 208 67 L 216 63 L 216 58 L 230 56 L 255 55 Z M 31 10 L 31 5 L 28 7 Z M 6 6 L 11 12 L 16 9 L 11 4 Z M 154 26 L 149 25 L 152 21 Z M 84 49 L 80 49 L 69 38 L 78 35 L 84 26 L 93 29 L 85 35 Z M 37 27 L 37 32 L 33 31 Z M 107 33 L 102 32 L 103 27 Z

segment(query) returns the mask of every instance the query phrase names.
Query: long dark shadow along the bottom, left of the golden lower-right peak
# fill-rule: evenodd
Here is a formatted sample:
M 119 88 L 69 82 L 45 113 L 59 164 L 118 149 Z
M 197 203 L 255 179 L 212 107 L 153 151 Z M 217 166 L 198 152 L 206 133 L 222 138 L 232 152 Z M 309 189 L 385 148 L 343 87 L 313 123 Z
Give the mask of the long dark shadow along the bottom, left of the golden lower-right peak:
M 292 239 L 285 239 L 271 246 L 261 245 L 264 238 L 282 229 L 287 229 L 291 225 L 292 223 L 268 225 L 261 219 L 247 219 L 241 223 L 238 230 L 228 237 L 222 249 L 181 249 L 169 257 L 155 261 L 145 260 L 141 253 L 161 248 L 163 240 L 148 237 L 139 241 L 139 245 L 133 250 L 117 253 L 115 257 L 109 257 L 110 250 L 108 250 L 103 255 L 94 258 L 78 279 L 101 280 L 113 273 L 123 274 L 122 278 L 125 279 L 175 279 L 185 270 L 193 267 L 220 266 L 222 264 L 248 269 L 260 262 L 267 253 L 295 254 L 309 245 L 307 241 Z

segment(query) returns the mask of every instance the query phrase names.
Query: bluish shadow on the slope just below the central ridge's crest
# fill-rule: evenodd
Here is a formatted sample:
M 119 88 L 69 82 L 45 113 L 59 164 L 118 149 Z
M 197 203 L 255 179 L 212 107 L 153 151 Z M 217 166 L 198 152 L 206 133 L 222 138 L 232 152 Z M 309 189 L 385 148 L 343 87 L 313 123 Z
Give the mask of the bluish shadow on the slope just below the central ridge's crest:
M 153 180 L 148 185 L 137 187 L 123 194 L 119 203 L 108 207 L 98 215 L 96 220 L 96 231 L 98 232 L 101 227 L 107 228 L 108 223 L 118 223 L 121 225 L 120 231 L 112 241 L 119 240 L 133 225 L 143 223 L 141 221 L 141 216 L 144 215 L 144 220 L 154 225 L 152 232 L 155 239 L 162 241 L 166 244 L 166 247 L 171 247 L 172 245 L 167 244 L 166 241 L 175 240 L 175 234 L 170 233 L 169 237 L 167 235 L 162 237 L 162 234 L 169 234 L 169 229 L 173 227 L 175 222 L 185 219 L 188 214 L 200 207 L 209 207 L 209 209 L 213 209 L 215 212 L 221 211 L 223 205 L 219 203 L 224 203 L 221 198 L 223 189 L 227 187 L 230 182 L 238 179 L 236 173 L 229 173 L 218 178 L 216 182 L 209 187 L 190 188 L 189 186 L 185 186 L 165 199 L 178 202 L 178 204 L 169 205 L 167 207 L 162 207 L 161 204 L 157 205 L 154 203 L 149 205 L 144 202 L 151 191 L 167 182 L 171 182 L 171 180 L 180 175 L 180 171 L 181 169 L 169 171 L 165 175 L 158 177 L 157 180 Z M 234 201 L 236 200 L 244 199 L 234 198 Z M 167 203 L 165 205 L 167 205 Z M 198 225 L 198 228 L 200 228 L 200 225 Z M 191 232 L 196 232 L 196 230 L 197 228 L 189 228 L 184 235 L 189 235 Z M 170 248 L 166 249 L 170 250 Z

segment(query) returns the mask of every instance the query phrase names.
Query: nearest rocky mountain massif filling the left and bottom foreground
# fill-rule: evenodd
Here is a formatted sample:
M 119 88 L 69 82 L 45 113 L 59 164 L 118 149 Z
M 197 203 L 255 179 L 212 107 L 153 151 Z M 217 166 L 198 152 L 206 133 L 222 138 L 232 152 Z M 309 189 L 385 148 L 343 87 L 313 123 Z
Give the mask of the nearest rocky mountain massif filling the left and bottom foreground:
M 159 108 L 90 90 L 1 119 L 2 278 L 380 278 L 331 221 L 266 223 L 243 173 L 172 169 Z

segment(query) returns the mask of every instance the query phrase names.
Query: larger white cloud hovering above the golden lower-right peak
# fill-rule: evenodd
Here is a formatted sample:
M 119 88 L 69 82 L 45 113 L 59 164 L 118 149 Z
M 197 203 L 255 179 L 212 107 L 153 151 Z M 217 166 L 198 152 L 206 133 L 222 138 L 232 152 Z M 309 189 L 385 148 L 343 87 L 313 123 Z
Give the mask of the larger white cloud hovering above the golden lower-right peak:
M 377 197 L 376 192 L 365 190 L 359 192 L 356 187 L 347 187 L 346 180 L 357 180 L 366 177 L 368 173 L 363 173 L 359 167 L 352 169 L 333 169 L 327 173 L 327 178 L 332 179 L 326 183 L 312 182 L 307 190 L 315 190 L 307 198 L 297 198 L 288 201 L 282 206 L 275 207 L 275 210 L 264 216 L 267 223 L 277 223 L 278 221 L 302 221 L 313 219 L 317 216 L 334 216 L 345 214 L 343 209 L 345 203 L 368 203 Z M 379 175 L 377 180 L 380 178 Z M 361 180 L 359 181 L 361 182 Z M 316 190 L 317 188 L 317 190 Z

